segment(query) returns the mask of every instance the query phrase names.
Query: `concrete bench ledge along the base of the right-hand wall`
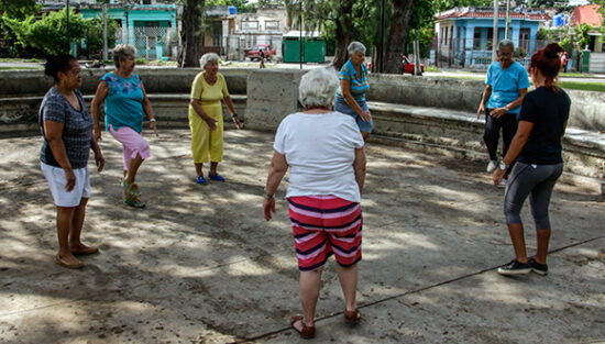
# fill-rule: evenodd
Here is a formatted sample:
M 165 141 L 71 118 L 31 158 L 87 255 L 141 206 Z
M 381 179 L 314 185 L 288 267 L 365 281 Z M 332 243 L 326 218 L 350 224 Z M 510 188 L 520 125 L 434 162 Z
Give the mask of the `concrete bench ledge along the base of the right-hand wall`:
M 373 135 L 380 140 L 403 140 L 457 157 L 486 160 L 483 120 L 476 114 L 448 109 L 369 102 L 374 118 Z M 605 179 L 605 134 L 569 127 L 563 137 L 565 170 Z

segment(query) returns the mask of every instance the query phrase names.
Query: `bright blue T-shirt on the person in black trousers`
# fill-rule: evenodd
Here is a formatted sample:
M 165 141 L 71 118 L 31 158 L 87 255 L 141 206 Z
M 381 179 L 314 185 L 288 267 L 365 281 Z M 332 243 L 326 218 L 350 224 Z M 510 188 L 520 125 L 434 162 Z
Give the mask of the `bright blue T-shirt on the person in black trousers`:
M 485 85 L 492 86 L 492 96 L 486 108 L 503 108 L 519 98 L 519 90 L 529 87 L 527 70 L 521 64 L 514 62 L 508 68 L 502 69 L 501 63 L 495 62 L 487 69 Z M 518 113 L 519 108 L 509 112 Z

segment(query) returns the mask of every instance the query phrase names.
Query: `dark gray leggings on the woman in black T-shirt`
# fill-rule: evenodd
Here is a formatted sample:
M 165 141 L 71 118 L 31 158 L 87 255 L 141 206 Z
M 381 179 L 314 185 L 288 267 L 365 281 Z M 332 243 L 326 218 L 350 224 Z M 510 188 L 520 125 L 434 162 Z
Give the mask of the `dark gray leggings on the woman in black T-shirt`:
M 521 207 L 529 196 L 536 230 L 550 229 L 548 206 L 557 179 L 563 173 L 563 163 L 557 165 L 515 164 L 506 184 L 504 214 L 507 224 L 521 223 Z

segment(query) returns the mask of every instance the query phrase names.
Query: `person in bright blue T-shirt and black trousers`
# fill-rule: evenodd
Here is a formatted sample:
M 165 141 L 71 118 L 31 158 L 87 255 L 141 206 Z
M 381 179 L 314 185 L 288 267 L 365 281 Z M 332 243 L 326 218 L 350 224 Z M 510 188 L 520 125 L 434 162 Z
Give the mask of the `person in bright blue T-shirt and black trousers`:
M 487 171 L 496 169 L 499 142 L 499 131 L 503 136 L 503 156 L 517 132 L 517 113 L 527 88 L 529 78 L 527 70 L 519 63 L 513 60 L 515 44 L 510 40 L 503 40 L 498 44 L 498 60 L 490 65 L 485 79 L 485 91 L 477 109 L 477 119 L 485 112 L 485 133 L 483 140 L 490 153 Z M 504 182 L 506 182 L 504 180 Z

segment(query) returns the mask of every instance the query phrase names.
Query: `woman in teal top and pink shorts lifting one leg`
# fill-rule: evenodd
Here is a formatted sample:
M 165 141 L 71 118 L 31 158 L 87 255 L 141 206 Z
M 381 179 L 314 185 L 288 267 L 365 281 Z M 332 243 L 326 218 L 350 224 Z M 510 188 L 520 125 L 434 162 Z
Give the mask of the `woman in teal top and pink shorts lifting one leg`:
M 90 104 L 90 112 L 95 121 L 94 134 L 100 141 L 98 111 L 99 104 L 105 101 L 106 130 L 124 148 L 124 179 L 122 180 L 124 203 L 142 208 L 145 207 L 145 203 L 139 198 L 139 187 L 134 180 L 143 160 L 151 156 L 150 144 L 141 136 L 143 112 L 147 114 L 150 127 L 156 136 L 157 129 L 143 81 L 138 75 L 132 74 L 135 54 L 136 49 L 130 44 L 119 44 L 113 48 L 116 70 L 101 78 Z

